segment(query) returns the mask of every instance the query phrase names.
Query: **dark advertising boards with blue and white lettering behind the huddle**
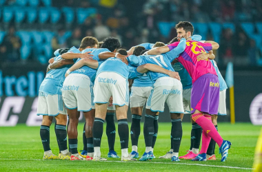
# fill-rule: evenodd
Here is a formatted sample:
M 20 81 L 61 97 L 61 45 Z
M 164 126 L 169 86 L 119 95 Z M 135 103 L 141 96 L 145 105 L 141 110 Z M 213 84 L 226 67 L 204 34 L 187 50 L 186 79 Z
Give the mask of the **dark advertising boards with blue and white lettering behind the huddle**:
M 46 74 L 46 67 L 28 65 L 17 70 L 15 66 L 0 70 L 0 126 L 15 126 L 26 123 L 28 126 L 41 125 L 41 116 L 37 116 L 38 89 Z M 224 74 L 223 71 L 221 71 Z M 262 124 L 262 100 L 250 104 L 262 93 L 262 72 L 234 72 L 234 95 L 236 122 L 253 120 Z M 252 85 L 252 89 L 250 86 Z M 230 121 L 229 90 L 227 91 L 228 116 L 219 116 L 220 122 Z M 251 112 L 250 112 L 250 109 Z M 145 111 L 143 111 L 145 113 Z M 132 114 L 128 111 L 128 120 Z M 83 122 L 83 116 L 81 116 Z M 143 121 L 143 118 L 142 118 Z M 183 121 L 190 122 L 190 115 L 185 114 Z M 160 114 L 159 122 L 170 122 L 168 107 Z

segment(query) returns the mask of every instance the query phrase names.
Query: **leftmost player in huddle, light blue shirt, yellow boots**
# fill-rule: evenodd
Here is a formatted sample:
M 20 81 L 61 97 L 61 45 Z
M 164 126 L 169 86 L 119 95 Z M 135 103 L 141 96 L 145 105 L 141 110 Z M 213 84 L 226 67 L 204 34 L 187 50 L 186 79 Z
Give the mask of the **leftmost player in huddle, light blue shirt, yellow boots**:
M 72 47 L 70 52 L 77 52 L 77 48 Z M 61 53 L 62 54 L 62 53 Z M 61 55 L 50 59 L 46 78 L 39 87 L 39 100 L 37 105 L 37 115 L 43 116 L 40 127 L 40 136 L 43 144 L 43 159 L 70 159 L 66 138 L 66 109 L 63 105 L 61 96 L 61 86 L 63 85 L 64 75 L 68 69 L 67 65 L 72 61 L 62 60 Z M 60 67 L 60 68 L 59 68 Z M 56 69 L 59 68 L 59 69 Z M 59 144 L 59 157 L 54 155 L 50 149 L 50 125 L 53 117 L 56 119 L 55 133 Z

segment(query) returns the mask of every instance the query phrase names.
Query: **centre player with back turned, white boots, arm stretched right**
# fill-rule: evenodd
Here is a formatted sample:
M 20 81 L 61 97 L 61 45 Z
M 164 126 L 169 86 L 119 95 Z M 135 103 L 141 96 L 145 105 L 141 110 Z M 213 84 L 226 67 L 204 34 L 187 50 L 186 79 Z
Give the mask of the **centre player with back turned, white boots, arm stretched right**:
M 112 55 L 114 56 L 114 55 Z M 101 158 L 101 137 L 103 135 L 103 122 L 106 116 L 108 100 L 110 96 L 113 97 L 112 104 L 116 106 L 116 116 L 118 120 L 118 131 L 121 143 L 121 160 L 133 161 L 128 154 L 128 121 L 127 121 L 127 107 L 129 99 L 128 78 L 137 76 L 139 69 L 152 69 L 156 72 L 163 72 L 166 74 L 173 74 L 172 72 L 163 69 L 162 67 L 152 67 L 150 64 L 143 65 L 136 68 L 128 67 L 127 61 L 125 63 L 119 58 L 108 58 L 99 66 L 97 76 L 94 81 L 94 103 L 95 103 L 95 119 L 93 127 L 94 136 L 94 159 L 96 161 L 106 160 Z M 116 67 L 117 66 L 117 67 Z M 150 68 L 151 66 L 151 68 Z M 143 72 L 144 73 L 144 72 Z

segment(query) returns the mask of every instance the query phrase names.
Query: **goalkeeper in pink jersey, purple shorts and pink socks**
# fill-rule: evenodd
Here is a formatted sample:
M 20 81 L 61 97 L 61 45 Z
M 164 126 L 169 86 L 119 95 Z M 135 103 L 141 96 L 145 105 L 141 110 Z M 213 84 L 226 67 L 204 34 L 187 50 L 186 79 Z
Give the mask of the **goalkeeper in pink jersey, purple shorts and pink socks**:
M 176 25 L 178 36 L 185 33 L 185 38 L 192 36 L 194 31 L 193 25 L 188 21 L 181 21 Z M 178 43 L 172 43 L 165 47 L 157 47 L 148 52 L 148 54 L 161 54 L 169 52 L 177 47 Z M 206 152 L 210 139 L 219 145 L 219 152 L 222 155 L 221 162 L 228 157 L 228 149 L 231 142 L 223 140 L 218 131 L 212 124 L 211 116 L 208 114 L 217 114 L 219 108 L 219 78 L 214 66 L 209 60 L 199 60 L 196 58 L 200 52 L 205 53 L 210 50 L 217 50 L 219 44 L 208 41 L 200 43 L 197 41 L 187 41 L 185 51 L 180 54 L 177 60 L 187 69 L 192 78 L 191 93 L 191 114 L 192 120 L 200 125 L 203 129 L 202 147 L 196 158 L 192 160 L 206 160 Z

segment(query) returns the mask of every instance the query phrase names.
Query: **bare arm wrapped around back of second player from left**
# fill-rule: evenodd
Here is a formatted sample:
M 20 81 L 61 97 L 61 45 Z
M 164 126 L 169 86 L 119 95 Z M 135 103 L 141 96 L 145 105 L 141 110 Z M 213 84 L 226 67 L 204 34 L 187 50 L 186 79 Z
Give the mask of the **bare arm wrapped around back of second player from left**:
M 77 63 L 74 63 L 70 69 L 66 72 L 66 76 L 70 74 L 70 72 L 73 72 L 76 69 L 79 69 L 83 67 L 83 65 L 87 65 L 88 67 L 91 67 L 92 69 L 97 69 L 99 67 L 99 62 L 90 58 L 82 58 L 80 61 Z

